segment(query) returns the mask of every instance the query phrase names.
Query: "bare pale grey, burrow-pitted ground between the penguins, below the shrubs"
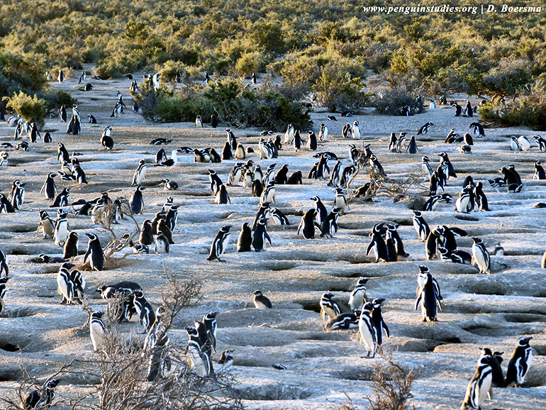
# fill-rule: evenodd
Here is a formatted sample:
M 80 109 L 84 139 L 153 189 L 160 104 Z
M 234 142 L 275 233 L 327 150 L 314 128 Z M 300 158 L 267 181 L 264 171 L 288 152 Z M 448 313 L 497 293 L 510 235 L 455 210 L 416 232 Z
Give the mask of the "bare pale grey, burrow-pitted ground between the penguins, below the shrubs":
M 53 143 L 32 145 L 28 153 L 9 150 L 10 166 L 1 168 L 0 192 L 7 194 L 13 179 L 26 182 L 24 210 L 16 214 L 0 215 L 0 249 L 8 254 L 11 281 L 6 294 L 7 311 L 0 317 L 0 348 L 9 344 L 21 346 L 21 352 L 0 350 L 0 395 L 12 394 L 22 379 L 19 367 L 40 378 L 48 377 L 53 367 L 78 355 L 92 358 L 88 333 L 76 332 L 87 319 L 77 306 L 59 306 L 57 297 L 57 266 L 35 265 L 28 262 L 31 255 L 60 253 L 52 240 L 36 236 L 38 210 L 48 206 L 39 194 L 45 175 L 59 169 L 55 159 L 57 141 L 65 143 L 69 153 L 77 151 L 89 184 L 77 187 L 74 183 L 60 182 L 57 187 L 72 187 L 71 199 L 91 199 L 97 193 L 109 190 L 111 196 L 129 197 L 133 192 L 130 182 L 133 171 L 142 157 L 152 161 L 157 147 L 148 145 L 152 138 L 168 137 L 174 141 L 169 148 L 213 146 L 221 152 L 225 141 L 224 126 L 216 130 L 196 130 L 192 123 L 157 124 L 144 121 L 131 112 L 121 118 L 109 118 L 119 89 L 129 102 L 129 81 L 91 81 L 95 89 L 77 91 L 76 79 L 55 84 L 74 92 L 82 113 L 82 135 L 65 134 L 66 125 L 57 118 L 46 121 L 52 130 Z M 130 104 L 128 104 L 130 105 Z M 93 113 L 98 126 L 87 123 L 87 114 Z M 315 131 L 325 121 L 327 113 L 313 113 Z M 352 140 L 339 138 L 344 118 L 329 122 L 330 137 L 324 150 L 330 150 L 347 160 L 348 145 Z M 537 147 L 526 153 L 513 153 L 508 148 L 508 135 L 533 135 L 528 130 L 487 129 L 486 138 L 477 141 L 473 153 L 457 153 L 458 145 L 445 145 L 443 140 L 450 128 L 459 133 L 468 130 L 475 118 L 455 118 L 453 110 L 445 107 L 423 115 L 386 117 L 367 114 L 358 119 L 364 140 L 371 143 L 373 152 L 392 178 L 401 178 L 410 170 L 420 169 L 420 157 L 428 155 L 438 163 L 438 153 L 445 150 L 455 165 L 458 178 L 450 179 L 447 192 L 454 197 L 461 189 L 462 180 L 472 174 L 483 181 L 491 212 L 469 215 L 457 214 L 452 205 L 440 205 L 437 211 L 425 214 L 430 226 L 447 224 L 469 232 L 469 236 L 483 238 L 487 248 L 501 242 L 505 256 L 493 257 L 492 275 L 478 275 L 474 267 L 433 260 L 425 262 L 424 244 L 416 238 L 411 225 L 411 209 L 407 203 L 393 204 L 386 197 L 373 203 L 353 201 L 350 212 L 340 217 L 340 230 L 335 238 L 304 240 L 296 236 L 296 227 L 303 211 L 313 207 L 311 196 L 320 196 L 325 204 L 333 200 L 334 192 L 323 181 L 304 179 L 301 186 L 277 188 L 275 206 L 282 209 L 291 226 L 270 226 L 273 246 L 263 253 L 235 253 L 235 241 L 240 225 L 252 221 L 257 209 L 257 198 L 243 187 L 228 187 L 232 204 L 218 206 L 209 196 L 208 172 L 214 168 L 223 181 L 234 160 L 221 164 L 195 164 L 192 155 L 184 155 L 172 168 L 152 167 L 147 181 L 169 177 L 180 184 L 174 196 L 181 205 L 175 245 L 168 255 L 135 255 L 127 257 L 115 269 L 104 272 L 85 272 L 91 305 L 104 309 L 104 301 L 96 298 L 92 289 L 100 284 L 130 279 L 140 283 L 152 303 L 160 300 L 165 287 L 165 268 L 196 275 L 204 279 L 204 298 L 199 305 L 186 309 L 179 316 L 171 337 L 184 341 L 184 326 L 200 318 L 206 311 L 220 311 L 218 315 L 218 351 L 235 349 L 233 372 L 238 377 L 238 388 L 250 409 L 335 409 L 346 403 L 345 393 L 357 409 L 364 409 L 366 396 L 371 392 L 369 379 L 384 360 L 365 360 L 363 346 L 355 332 L 323 331 L 318 314 L 321 293 L 330 290 L 338 301 L 347 301 L 357 278 L 369 277 L 368 294 L 384 297 L 384 317 L 391 328 L 391 338 L 384 348 L 392 352 L 396 362 L 418 372 L 413 386 L 414 404 L 418 409 L 458 409 L 472 376 L 479 348 L 489 346 L 505 352 L 506 362 L 518 337 L 534 336 L 532 345 L 535 358 L 530 370 L 530 389 L 495 389 L 493 402 L 484 409 L 546 409 L 546 282 L 540 269 L 545 248 L 545 218 L 543 209 L 533 204 L 546 199 L 545 182 L 534 182 L 533 162 L 543 159 Z M 389 153 L 388 136 L 414 130 L 426 121 L 436 125 L 428 135 L 418 138 L 420 155 Z M 116 141 L 113 151 L 101 149 L 99 138 L 105 126 L 112 126 Z M 260 130 L 236 130 L 235 135 L 245 146 L 254 148 Z M 0 139 L 8 142 L 13 128 L 0 124 Z M 252 159 L 257 160 L 256 157 Z M 264 170 L 271 162 L 289 164 L 290 170 L 301 170 L 304 175 L 314 159 L 308 150 L 294 153 L 284 147 L 277 160 L 257 160 Z M 520 194 L 495 192 L 486 183 L 487 178 L 498 176 L 498 169 L 511 162 L 524 180 Z M 333 163 L 330 164 L 333 166 Z M 360 174 L 355 185 L 367 181 Z M 413 192 L 418 194 L 418 192 Z M 145 214 L 137 216 L 141 223 L 160 210 L 167 192 L 162 187 L 145 190 Z M 53 214 L 54 212 L 51 212 Z M 410 257 L 393 263 L 373 263 L 366 257 L 369 243 L 367 233 L 374 223 L 394 221 Z M 206 262 L 213 236 L 223 224 L 233 225 L 231 244 L 224 255 L 226 262 Z M 85 232 L 99 233 L 103 243 L 106 236 L 89 218 L 69 218 L 71 228 L 80 233 L 80 250 L 87 244 Z M 126 222 L 123 228 L 130 229 Z M 470 238 L 460 238 L 459 247 L 469 251 Z M 425 263 L 442 287 L 444 309 L 438 323 L 422 323 L 420 312 L 413 310 L 418 265 Z M 107 265 L 108 267 L 108 265 Z M 252 292 L 261 289 L 269 297 L 274 309 L 258 311 L 252 305 Z M 120 326 L 130 332 L 136 323 Z M 274 370 L 274 363 L 284 364 L 288 370 Z M 506 371 L 506 364 L 504 365 Z M 70 397 L 86 388 L 82 377 L 65 377 L 58 388 L 61 396 Z

